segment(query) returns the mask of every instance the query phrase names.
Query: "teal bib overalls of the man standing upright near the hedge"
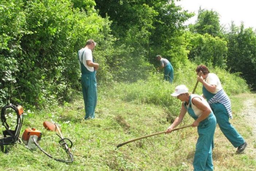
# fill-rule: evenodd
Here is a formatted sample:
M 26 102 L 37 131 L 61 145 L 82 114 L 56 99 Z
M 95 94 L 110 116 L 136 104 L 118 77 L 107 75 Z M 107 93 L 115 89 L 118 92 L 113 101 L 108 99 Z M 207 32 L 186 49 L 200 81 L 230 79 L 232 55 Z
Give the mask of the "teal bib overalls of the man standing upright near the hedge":
M 79 60 L 79 51 L 78 51 L 78 60 Z M 83 61 L 84 51 L 82 53 Z M 82 83 L 82 92 L 84 96 L 85 103 L 85 119 L 94 118 L 95 116 L 95 108 L 97 104 L 97 82 L 96 82 L 96 71 L 89 71 L 84 64 L 81 62 L 81 83 Z

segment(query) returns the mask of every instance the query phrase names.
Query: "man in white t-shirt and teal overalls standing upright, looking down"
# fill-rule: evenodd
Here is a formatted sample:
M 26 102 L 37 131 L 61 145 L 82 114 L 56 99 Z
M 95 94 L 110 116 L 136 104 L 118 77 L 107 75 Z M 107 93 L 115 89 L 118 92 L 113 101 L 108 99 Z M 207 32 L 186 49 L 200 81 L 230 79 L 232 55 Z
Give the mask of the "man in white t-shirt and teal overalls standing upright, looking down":
M 81 83 L 85 103 L 85 119 L 94 118 L 97 104 L 96 70 L 98 70 L 99 64 L 94 62 L 92 56 L 96 44 L 93 39 L 89 39 L 85 47 L 77 53 L 82 73 Z

